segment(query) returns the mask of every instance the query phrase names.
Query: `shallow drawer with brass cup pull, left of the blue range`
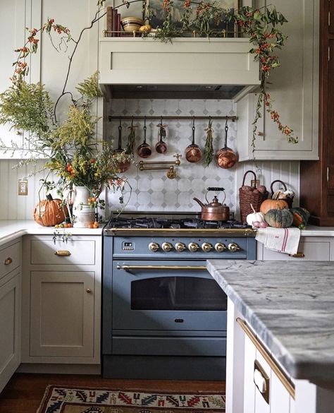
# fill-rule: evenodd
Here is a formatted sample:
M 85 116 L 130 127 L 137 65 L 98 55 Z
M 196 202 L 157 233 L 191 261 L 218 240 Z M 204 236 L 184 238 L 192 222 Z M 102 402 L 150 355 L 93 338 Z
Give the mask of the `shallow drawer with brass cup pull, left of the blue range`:
M 95 241 L 73 239 L 62 241 L 32 239 L 30 241 L 30 264 L 44 265 L 94 265 Z

